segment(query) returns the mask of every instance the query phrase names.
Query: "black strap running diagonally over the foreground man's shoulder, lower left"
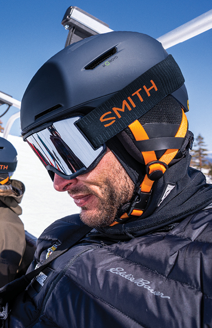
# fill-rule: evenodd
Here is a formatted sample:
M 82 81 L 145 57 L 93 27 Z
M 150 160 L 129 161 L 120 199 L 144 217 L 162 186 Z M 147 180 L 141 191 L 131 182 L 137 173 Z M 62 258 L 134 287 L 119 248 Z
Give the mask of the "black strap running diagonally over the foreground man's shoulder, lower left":
M 23 292 L 27 286 L 30 284 L 32 279 L 36 277 L 40 271 L 42 271 L 51 261 L 56 259 L 58 256 L 62 255 L 68 251 L 75 243 L 77 243 L 81 238 L 83 238 L 92 228 L 88 226 L 79 227 L 79 229 L 73 231 L 69 238 L 66 239 L 56 251 L 52 252 L 49 257 L 43 262 L 41 266 L 35 270 L 29 272 L 28 274 L 18 278 L 11 283 L 5 285 L 0 289 L 0 307 L 5 307 L 6 303 L 12 301 L 21 292 Z M 1 312 L 0 312 L 1 313 Z

